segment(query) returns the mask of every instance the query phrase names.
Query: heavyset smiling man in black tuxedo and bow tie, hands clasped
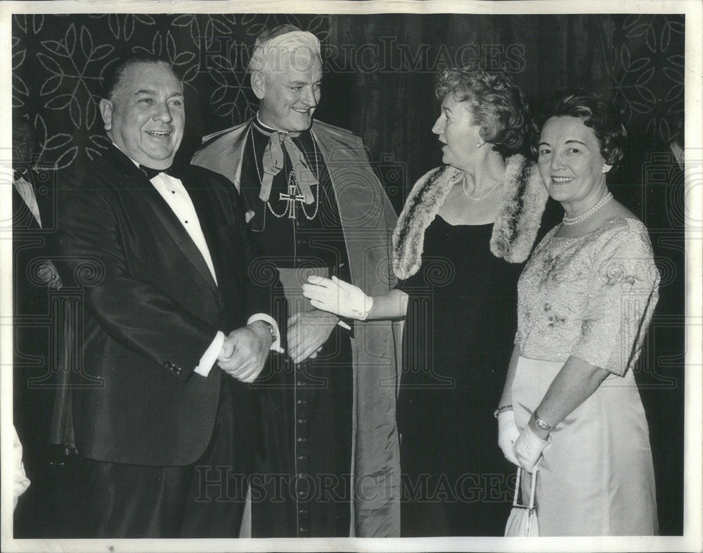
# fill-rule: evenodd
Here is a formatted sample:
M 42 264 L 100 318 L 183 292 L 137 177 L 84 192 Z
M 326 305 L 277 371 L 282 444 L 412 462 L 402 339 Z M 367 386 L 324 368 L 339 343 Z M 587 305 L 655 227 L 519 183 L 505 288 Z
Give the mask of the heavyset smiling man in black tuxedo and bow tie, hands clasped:
M 82 293 L 72 417 L 90 534 L 237 537 L 260 449 L 249 385 L 277 346 L 269 288 L 248 276 L 256 246 L 231 186 L 173 165 L 171 65 L 134 56 L 103 88 L 112 146 L 60 179 L 55 246 Z

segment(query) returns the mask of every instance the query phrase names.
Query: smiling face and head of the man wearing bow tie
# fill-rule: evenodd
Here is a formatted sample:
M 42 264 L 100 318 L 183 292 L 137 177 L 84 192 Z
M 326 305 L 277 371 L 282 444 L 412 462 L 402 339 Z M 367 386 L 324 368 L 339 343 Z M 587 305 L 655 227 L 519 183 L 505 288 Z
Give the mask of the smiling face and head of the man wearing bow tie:
M 181 145 L 186 114 L 183 87 L 163 63 L 127 66 L 109 100 L 100 103 L 105 130 L 141 165 L 167 169 Z

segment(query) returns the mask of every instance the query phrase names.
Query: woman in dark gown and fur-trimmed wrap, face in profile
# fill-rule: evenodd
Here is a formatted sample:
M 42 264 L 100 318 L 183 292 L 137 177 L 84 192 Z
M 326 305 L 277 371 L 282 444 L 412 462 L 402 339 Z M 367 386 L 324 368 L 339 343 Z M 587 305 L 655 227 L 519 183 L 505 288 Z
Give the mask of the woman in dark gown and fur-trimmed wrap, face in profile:
M 399 217 L 401 284 L 370 298 L 311 277 L 303 293 L 344 317 L 406 319 L 401 535 L 502 535 L 512 470 L 494 445 L 494 409 L 515 338 L 517 278 L 547 196 L 519 153 L 531 121 L 508 75 L 446 70 L 436 91 L 432 131 L 446 165 L 415 183 Z

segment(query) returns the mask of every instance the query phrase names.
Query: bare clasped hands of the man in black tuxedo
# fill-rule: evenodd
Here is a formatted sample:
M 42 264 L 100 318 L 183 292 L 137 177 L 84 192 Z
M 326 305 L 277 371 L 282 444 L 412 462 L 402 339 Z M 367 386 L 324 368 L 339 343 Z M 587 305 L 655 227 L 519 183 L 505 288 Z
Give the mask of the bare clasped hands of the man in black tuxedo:
M 271 332 L 266 324 L 254 321 L 231 331 L 224 339 L 217 364 L 242 382 L 253 382 L 264 369 L 271 348 Z

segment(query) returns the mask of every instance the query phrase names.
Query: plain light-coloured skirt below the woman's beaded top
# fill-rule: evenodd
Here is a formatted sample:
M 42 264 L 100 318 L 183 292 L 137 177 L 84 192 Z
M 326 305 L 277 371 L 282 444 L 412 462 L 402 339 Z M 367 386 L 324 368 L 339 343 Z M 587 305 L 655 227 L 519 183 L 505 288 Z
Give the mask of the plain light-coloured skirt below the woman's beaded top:
M 520 357 L 512 384 L 524 428 L 562 362 Z M 632 371 L 611 374 L 550 433 L 539 462 L 540 535 L 654 535 L 657 500 L 649 429 Z M 529 490 L 529 478 L 523 485 Z

